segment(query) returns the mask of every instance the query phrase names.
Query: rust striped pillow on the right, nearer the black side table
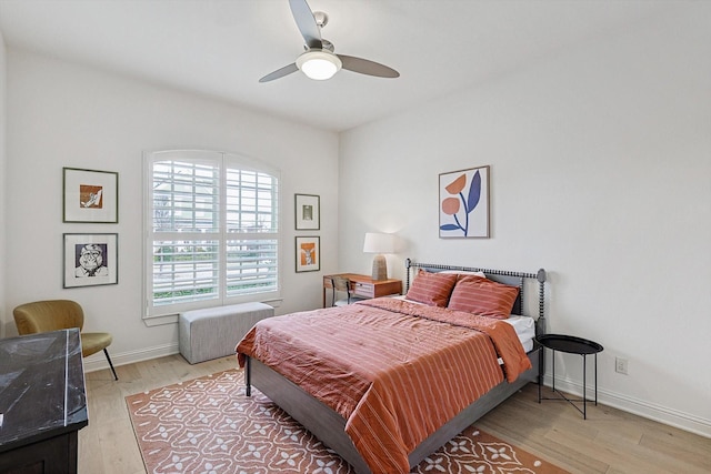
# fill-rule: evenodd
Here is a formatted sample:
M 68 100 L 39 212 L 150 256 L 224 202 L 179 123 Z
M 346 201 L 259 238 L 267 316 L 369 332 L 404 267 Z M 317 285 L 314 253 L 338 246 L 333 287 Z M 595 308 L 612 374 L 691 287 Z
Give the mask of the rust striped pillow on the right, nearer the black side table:
M 447 307 L 507 320 L 511 315 L 518 295 L 518 286 L 498 283 L 482 276 L 465 276 L 457 282 Z

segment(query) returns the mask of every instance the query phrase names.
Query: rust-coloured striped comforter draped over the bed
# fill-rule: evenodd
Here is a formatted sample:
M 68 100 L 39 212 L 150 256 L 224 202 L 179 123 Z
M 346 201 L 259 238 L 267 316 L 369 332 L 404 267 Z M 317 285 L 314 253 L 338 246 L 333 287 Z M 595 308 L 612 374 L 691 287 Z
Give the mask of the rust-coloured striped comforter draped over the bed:
M 262 320 L 237 352 L 343 416 L 373 473 L 407 473 L 418 444 L 531 366 L 508 323 L 387 297 Z

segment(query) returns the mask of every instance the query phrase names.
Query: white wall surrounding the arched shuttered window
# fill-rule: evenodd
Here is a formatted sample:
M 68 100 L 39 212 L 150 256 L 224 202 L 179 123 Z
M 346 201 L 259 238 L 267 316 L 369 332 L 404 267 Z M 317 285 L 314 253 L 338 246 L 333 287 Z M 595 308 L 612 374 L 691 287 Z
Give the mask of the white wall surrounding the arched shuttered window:
M 321 304 L 321 274 L 294 273 L 293 194 L 321 195 L 322 270 L 336 271 L 338 137 L 253 111 L 10 49 L 8 53 L 7 295 L 11 311 L 41 299 L 71 299 L 87 330 L 113 333 L 117 364 L 177 352 L 177 325 L 141 320 L 142 152 L 212 149 L 281 170 L 283 304 Z M 118 224 L 62 223 L 62 167 L 119 173 Z M 62 233 L 118 232 L 119 284 L 62 290 Z M 301 234 L 304 234 L 303 232 Z M 237 341 L 236 341 L 237 342 Z M 92 365 L 93 362 L 93 365 Z M 103 366 L 102 355 L 87 360 Z

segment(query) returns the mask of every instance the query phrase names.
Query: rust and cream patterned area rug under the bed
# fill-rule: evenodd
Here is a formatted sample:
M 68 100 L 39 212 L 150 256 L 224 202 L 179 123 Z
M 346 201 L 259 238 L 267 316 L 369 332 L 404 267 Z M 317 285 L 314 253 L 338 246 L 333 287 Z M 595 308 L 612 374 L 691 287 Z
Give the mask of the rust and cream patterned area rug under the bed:
M 230 370 L 126 399 L 148 473 L 353 474 L 333 451 Z M 414 473 L 565 473 L 474 426 Z

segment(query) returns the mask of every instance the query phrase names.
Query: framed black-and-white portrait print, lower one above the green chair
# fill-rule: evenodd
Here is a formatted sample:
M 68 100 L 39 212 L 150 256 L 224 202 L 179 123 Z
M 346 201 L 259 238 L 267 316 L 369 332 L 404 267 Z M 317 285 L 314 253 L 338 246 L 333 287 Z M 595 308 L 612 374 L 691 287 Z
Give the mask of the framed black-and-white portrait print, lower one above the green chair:
M 64 234 L 64 288 L 119 282 L 119 234 Z

